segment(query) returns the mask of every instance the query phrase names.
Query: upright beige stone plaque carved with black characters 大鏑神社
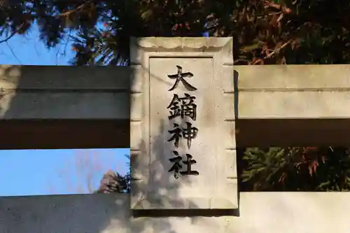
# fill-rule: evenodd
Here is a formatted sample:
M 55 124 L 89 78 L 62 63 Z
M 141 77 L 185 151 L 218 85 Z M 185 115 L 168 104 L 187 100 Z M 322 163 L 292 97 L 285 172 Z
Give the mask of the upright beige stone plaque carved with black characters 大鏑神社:
M 131 208 L 237 209 L 232 38 L 130 49 Z

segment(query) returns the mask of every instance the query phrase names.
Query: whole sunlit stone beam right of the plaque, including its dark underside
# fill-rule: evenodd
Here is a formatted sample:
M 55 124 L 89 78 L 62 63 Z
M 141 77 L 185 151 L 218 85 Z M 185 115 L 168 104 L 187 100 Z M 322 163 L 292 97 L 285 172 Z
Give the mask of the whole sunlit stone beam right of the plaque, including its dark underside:
M 350 146 L 350 66 L 235 66 L 237 146 Z

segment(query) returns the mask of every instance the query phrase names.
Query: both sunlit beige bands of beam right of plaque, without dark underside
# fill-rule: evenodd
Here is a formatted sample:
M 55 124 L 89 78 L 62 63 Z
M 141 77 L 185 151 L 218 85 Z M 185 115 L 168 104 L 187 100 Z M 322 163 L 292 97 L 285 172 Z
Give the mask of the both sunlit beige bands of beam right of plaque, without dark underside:
M 235 66 L 239 119 L 349 118 L 349 65 Z

